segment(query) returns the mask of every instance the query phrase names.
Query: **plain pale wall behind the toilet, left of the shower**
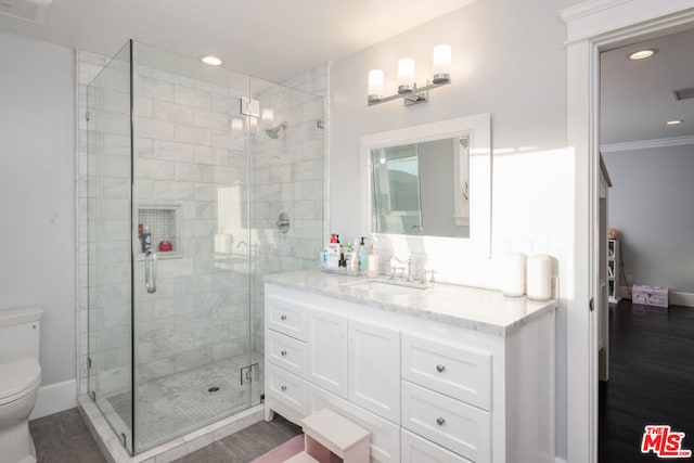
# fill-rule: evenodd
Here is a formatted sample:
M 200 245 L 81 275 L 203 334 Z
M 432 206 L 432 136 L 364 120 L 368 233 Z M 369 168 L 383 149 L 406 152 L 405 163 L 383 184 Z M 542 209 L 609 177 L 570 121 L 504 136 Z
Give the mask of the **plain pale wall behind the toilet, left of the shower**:
M 74 55 L 0 33 L 0 308 L 43 308 L 52 385 L 75 378 Z

